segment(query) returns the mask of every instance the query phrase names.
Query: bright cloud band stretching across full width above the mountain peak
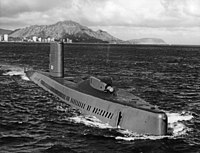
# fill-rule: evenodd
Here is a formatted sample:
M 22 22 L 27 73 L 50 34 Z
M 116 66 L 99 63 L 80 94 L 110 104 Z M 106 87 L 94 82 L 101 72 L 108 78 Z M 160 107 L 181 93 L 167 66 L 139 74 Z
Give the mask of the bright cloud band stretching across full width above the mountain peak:
M 199 0 L 0 0 L 0 7 L 0 21 L 17 18 L 25 25 L 68 19 L 87 26 L 155 28 L 200 22 Z

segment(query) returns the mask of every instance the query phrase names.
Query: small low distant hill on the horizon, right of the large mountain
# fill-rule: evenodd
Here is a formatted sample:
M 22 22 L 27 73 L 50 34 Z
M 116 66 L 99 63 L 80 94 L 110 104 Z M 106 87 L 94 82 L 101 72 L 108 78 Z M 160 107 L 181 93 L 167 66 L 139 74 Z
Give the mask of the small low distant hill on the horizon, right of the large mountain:
M 141 39 L 132 39 L 126 41 L 129 44 L 166 44 L 166 42 L 160 38 L 141 38 Z

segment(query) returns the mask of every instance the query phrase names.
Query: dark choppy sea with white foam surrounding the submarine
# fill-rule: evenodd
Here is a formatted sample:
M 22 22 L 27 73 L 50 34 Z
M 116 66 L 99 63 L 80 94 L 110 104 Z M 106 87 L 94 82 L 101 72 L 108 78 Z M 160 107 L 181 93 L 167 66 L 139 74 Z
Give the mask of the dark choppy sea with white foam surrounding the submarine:
M 65 76 L 111 76 L 167 113 L 166 136 L 112 128 L 29 81 L 49 47 L 0 43 L 0 153 L 200 152 L 200 46 L 65 45 Z

